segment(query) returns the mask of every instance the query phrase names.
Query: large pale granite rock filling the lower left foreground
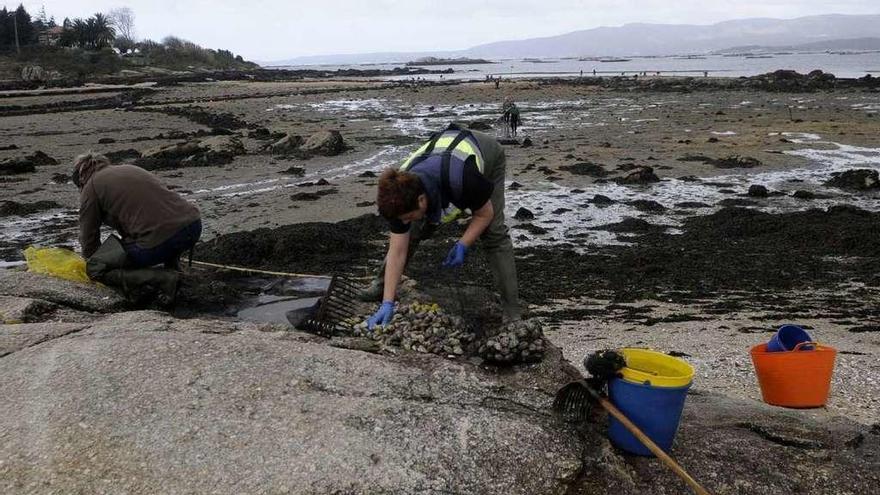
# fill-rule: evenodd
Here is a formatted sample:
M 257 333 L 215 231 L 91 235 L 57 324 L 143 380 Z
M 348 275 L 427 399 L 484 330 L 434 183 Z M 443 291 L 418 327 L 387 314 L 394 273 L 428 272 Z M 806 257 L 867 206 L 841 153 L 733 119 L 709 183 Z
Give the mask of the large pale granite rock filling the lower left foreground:
M 561 494 L 580 471 L 538 381 L 266 330 L 120 313 L 0 359 L 0 491 Z

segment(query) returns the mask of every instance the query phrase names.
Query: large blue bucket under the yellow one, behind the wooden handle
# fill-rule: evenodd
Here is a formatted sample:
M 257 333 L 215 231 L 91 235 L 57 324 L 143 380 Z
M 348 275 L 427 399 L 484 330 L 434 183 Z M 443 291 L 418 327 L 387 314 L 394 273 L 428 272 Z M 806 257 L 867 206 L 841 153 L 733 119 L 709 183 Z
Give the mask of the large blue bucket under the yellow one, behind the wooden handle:
M 690 383 L 684 387 L 654 387 L 615 378 L 608 383 L 608 395 L 620 412 L 668 452 L 678 431 L 689 388 Z M 608 438 L 611 443 L 631 454 L 654 455 L 621 422 L 613 416 L 608 418 Z

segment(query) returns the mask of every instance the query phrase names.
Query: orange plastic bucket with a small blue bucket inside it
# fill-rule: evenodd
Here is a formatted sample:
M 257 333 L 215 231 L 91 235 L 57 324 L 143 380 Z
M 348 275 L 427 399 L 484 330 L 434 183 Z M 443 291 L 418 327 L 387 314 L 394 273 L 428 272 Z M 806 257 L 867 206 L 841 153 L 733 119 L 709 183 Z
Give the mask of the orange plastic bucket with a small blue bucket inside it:
M 837 351 L 815 342 L 812 350 L 767 352 L 767 344 L 752 347 L 752 363 L 764 402 L 783 407 L 822 407 L 831 390 Z

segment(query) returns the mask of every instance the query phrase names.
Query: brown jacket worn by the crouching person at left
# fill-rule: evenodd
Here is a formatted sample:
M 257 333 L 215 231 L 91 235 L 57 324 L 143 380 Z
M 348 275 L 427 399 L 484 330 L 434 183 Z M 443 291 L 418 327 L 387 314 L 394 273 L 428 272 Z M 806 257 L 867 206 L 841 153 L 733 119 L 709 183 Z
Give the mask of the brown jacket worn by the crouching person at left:
M 100 245 L 101 224 L 142 248 L 162 244 L 201 217 L 199 209 L 134 165 L 98 170 L 79 196 L 79 242 L 88 258 Z

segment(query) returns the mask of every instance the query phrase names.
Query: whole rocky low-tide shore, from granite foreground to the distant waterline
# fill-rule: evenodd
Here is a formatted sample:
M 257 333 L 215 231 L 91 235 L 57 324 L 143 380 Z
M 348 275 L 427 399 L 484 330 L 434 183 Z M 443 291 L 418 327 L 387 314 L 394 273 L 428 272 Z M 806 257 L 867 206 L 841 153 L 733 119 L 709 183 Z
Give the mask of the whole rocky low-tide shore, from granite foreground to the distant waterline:
M 0 385 L 6 490 L 124 478 L 146 493 L 161 478 L 166 490 L 202 491 L 213 476 L 221 491 L 680 493 L 656 461 L 615 451 L 601 415 L 574 425 L 549 411 L 586 354 L 622 346 L 697 369 L 673 455 L 713 493 L 876 485 L 873 80 L 583 78 L 496 90 L 305 77 L 0 95 L 0 260 L 21 260 L 30 244 L 76 248 L 70 163 L 93 150 L 153 170 L 199 206 L 197 260 L 365 281 L 387 238 L 377 174 L 452 120 L 504 138 L 497 117 L 511 99 L 524 125 L 505 140 L 505 211 L 542 359 L 495 359 L 537 350 L 526 329 L 520 349 L 516 329 L 503 346 L 460 332 L 434 341 L 433 323 L 417 342 L 364 342 L 253 318 L 257 305 L 320 294 L 308 280 L 195 266 L 168 314 L 0 268 L 0 369 L 16 377 Z M 469 331 L 496 332 L 479 246 L 460 272 L 439 269 L 462 228 L 420 247 L 406 304 L 437 303 Z M 787 322 L 839 351 L 824 409 L 760 402 L 748 349 Z M 436 352 L 420 352 L 423 341 Z

